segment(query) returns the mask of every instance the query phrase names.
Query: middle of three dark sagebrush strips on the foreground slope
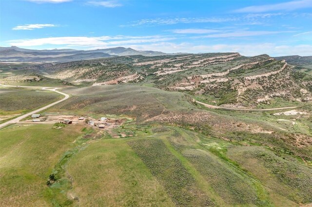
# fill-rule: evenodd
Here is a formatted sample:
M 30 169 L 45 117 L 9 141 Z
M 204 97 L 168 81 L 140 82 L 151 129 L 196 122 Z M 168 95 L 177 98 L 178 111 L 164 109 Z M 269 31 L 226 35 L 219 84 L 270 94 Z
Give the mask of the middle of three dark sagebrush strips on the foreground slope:
M 177 131 L 168 138 L 174 148 L 185 156 L 211 183 L 214 190 L 228 204 L 260 204 L 257 194 L 247 177 L 235 173 L 215 155 L 192 145 L 192 141 L 182 137 Z M 261 203 L 264 205 L 264 203 Z

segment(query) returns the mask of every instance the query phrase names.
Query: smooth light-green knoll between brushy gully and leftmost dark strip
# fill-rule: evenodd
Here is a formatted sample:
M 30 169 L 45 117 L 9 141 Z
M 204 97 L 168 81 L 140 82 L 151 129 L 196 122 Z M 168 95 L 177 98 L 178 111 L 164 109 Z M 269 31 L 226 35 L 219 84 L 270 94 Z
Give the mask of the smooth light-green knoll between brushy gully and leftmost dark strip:
M 174 206 L 126 139 L 91 143 L 67 169 L 81 206 Z

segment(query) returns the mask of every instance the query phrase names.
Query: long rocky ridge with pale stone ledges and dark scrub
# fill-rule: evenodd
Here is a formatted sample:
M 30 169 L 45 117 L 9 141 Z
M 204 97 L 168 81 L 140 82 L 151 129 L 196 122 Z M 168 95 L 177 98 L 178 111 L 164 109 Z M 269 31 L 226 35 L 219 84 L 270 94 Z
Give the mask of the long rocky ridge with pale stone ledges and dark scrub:
M 231 107 L 312 101 L 312 76 L 285 60 L 239 53 L 142 55 L 26 67 L 75 85 L 140 83 Z M 278 103 L 277 103 L 278 102 Z

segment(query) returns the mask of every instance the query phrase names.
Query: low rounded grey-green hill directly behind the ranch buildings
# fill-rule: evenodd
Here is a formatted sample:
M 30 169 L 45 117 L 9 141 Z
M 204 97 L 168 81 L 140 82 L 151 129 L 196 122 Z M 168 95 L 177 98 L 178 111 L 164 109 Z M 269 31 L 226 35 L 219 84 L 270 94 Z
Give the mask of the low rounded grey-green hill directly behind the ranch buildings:
M 169 110 L 195 108 L 183 93 L 163 91 L 157 88 L 129 85 L 67 88 L 70 99 L 49 109 L 75 111 L 87 114 L 126 114 L 145 121 Z

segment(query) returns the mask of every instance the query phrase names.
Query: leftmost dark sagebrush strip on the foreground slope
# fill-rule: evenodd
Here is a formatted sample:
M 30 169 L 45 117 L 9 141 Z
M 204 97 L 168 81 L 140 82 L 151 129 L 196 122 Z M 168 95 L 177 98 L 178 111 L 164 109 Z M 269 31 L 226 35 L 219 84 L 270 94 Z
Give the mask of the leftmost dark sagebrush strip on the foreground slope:
M 176 206 L 212 206 L 213 202 L 196 185 L 195 178 L 159 139 L 129 141 L 151 173 L 164 186 Z

